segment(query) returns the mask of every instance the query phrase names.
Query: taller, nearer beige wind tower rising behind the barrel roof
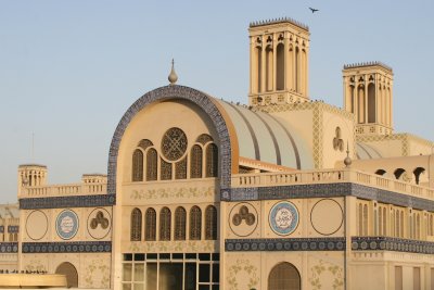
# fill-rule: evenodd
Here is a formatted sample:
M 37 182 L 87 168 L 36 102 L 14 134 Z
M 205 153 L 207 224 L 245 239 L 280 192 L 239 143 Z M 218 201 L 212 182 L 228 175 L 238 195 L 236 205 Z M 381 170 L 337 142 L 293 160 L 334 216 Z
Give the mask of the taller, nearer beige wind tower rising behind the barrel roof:
M 288 17 L 251 23 L 250 105 L 309 99 L 309 35 L 306 25 Z

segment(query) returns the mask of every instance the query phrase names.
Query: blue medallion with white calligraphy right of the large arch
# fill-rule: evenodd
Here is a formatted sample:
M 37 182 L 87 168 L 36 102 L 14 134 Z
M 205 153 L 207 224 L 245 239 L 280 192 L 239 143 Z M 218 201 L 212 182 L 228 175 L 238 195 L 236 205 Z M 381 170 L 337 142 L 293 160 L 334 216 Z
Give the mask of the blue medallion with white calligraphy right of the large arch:
M 289 201 L 276 203 L 270 210 L 269 224 L 272 231 L 280 236 L 292 234 L 298 226 L 297 207 Z

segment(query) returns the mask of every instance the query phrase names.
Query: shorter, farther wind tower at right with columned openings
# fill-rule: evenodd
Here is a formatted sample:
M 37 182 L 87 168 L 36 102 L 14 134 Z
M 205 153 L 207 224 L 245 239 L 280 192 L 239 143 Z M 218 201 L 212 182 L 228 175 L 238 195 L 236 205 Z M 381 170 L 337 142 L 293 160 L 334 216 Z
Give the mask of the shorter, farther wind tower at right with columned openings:
M 380 62 L 344 65 L 344 106 L 357 135 L 391 135 L 393 71 Z

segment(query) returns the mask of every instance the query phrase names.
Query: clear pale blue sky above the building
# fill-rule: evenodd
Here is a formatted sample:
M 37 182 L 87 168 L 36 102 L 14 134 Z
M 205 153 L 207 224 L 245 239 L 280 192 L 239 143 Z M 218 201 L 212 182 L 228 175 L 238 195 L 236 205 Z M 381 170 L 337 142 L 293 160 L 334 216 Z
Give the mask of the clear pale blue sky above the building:
M 106 173 L 118 121 L 168 84 L 171 58 L 178 84 L 246 103 L 258 20 L 309 26 L 311 99 L 342 106 L 344 64 L 392 66 L 395 131 L 434 140 L 433 11 L 432 0 L 0 0 L 0 203 L 16 201 L 18 164 L 47 165 L 51 184 Z

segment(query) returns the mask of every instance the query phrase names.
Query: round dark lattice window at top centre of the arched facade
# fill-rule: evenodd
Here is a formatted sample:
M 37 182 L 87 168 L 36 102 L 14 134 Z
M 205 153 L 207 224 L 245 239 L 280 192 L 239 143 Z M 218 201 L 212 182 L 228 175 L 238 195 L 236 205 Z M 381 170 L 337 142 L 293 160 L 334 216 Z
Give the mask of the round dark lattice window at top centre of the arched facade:
M 162 152 L 168 161 L 177 161 L 186 153 L 187 136 L 177 127 L 168 129 L 162 139 Z

